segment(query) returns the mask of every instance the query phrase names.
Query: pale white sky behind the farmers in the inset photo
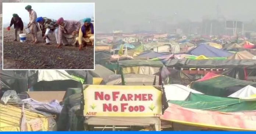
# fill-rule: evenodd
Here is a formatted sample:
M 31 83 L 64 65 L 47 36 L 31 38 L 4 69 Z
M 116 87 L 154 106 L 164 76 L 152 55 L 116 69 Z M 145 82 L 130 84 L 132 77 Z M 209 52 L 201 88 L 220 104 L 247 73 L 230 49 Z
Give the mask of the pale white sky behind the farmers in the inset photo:
M 27 5 L 32 6 L 38 17 L 56 20 L 60 17 L 81 20 L 94 15 L 94 3 L 3 3 L 3 23 L 10 23 L 14 13 L 28 23 L 29 13 L 25 10 Z

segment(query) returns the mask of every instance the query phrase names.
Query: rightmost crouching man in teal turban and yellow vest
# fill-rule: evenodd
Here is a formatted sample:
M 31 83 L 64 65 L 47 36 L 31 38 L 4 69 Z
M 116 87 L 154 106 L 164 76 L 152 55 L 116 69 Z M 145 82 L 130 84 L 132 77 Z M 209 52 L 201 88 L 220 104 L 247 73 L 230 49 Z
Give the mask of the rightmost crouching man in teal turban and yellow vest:
M 83 19 L 83 26 L 79 30 L 79 35 L 76 38 L 79 44 L 79 50 L 82 50 L 82 44 L 93 45 L 94 44 L 94 29 L 93 23 L 90 18 Z M 85 46 L 85 45 L 84 45 Z

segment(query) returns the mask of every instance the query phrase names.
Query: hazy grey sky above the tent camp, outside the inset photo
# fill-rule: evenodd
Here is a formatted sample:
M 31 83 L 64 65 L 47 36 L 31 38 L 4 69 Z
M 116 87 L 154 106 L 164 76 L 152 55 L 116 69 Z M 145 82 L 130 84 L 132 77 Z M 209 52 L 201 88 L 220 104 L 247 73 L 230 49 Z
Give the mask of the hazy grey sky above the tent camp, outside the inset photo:
M 52 2 L 53 0 L 23 1 Z M 167 23 L 175 20 L 176 22 L 202 21 L 204 16 L 216 17 L 217 12 L 227 19 L 238 21 L 256 19 L 256 0 L 54 0 L 54 2 L 95 2 L 97 32 L 120 29 L 128 31 L 131 27 L 146 29 L 147 24 L 154 20 L 163 20 Z M 76 11 L 81 10 L 77 8 Z

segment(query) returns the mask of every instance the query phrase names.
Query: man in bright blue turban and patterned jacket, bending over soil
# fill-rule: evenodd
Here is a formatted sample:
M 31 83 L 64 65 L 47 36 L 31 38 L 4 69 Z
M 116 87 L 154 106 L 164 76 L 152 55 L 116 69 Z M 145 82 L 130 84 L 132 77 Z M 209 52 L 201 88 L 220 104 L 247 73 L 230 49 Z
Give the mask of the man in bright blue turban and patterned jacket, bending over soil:
M 58 24 L 56 23 L 56 20 L 49 19 L 46 17 L 39 17 L 36 18 L 36 22 L 39 23 L 40 29 L 42 30 L 42 37 L 44 40 L 46 40 L 46 45 L 50 44 L 50 39 L 48 37 L 48 34 L 51 33 L 55 35 L 55 39 L 58 42 Z

